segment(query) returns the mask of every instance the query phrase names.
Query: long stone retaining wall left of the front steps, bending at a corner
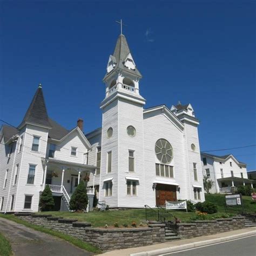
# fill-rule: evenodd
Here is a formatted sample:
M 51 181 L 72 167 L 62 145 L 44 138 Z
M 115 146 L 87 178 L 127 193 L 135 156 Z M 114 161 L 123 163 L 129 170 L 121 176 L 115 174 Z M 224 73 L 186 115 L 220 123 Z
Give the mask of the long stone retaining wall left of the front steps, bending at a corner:
M 152 224 L 143 228 L 92 228 L 90 223 L 43 214 L 17 213 L 17 217 L 78 238 L 100 249 L 116 250 L 153 245 L 165 241 L 165 225 Z

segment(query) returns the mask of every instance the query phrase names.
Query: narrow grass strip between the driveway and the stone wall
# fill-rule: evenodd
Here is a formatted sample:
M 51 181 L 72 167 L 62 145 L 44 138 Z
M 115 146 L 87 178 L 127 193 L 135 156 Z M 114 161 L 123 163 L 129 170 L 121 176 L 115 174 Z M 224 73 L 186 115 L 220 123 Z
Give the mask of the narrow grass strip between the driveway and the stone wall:
M 50 234 L 50 235 L 53 235 L 54 237 L 61 238 L 65 241 L 68 241 L 71 244 L 85 250 L 85 251 L 93 252 L 93 253 L 102 253 L 102 251 L 96 246 L 87 244 L 86 242 L 84 242 L 82 240 L 79 240 L 79 239 L 76 239 L 76 238 L 73 238 L 70 235 L 63 234 L 63 233 L 60 233 L 60 232 L 55 231 L 55 230 L 50 230 L 49 228 L 46 228 L 46 227 L 43 227 L 43 226 L 38 226 L 38 225 L 31 224 L 28 221 L 19 219 L 19 218 L 15 217 L 12 214 L 0 214 L 0 217 L 2 217 L 4 219 L 15 221 L 16 223 L 22 224 L 26 227 L 33 228 L 33 230 L 40 231 L 40 232 L 43 232 L 43 233 L 46 233 L 46 234 Z M 0 255 L 2 256 L 1 253 L 0 253 Z M 6 254 L 6 255 L 9 255 L 9 254 Z

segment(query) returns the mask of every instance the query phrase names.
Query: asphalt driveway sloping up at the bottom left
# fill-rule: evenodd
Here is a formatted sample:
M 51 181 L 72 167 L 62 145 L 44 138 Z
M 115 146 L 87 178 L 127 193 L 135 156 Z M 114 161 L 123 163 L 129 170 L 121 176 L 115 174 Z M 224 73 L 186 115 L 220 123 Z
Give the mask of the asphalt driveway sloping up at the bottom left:
M 69 242 L 3 218 L 0 218 L 0 232 L 8 238 L 16 256 L 93 255 Z

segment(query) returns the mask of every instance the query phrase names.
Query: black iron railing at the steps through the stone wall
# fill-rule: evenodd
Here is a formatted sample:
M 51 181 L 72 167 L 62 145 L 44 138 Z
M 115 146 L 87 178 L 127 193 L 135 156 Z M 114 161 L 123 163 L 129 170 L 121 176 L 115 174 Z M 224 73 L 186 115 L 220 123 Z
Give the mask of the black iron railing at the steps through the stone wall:
M 165 228 L 171 230 L 173 233 L 178 233 L 177 218 L 170 212 L 167 212 L 165 208 L 157 206 L 157 208 L 151 208 L 145 205 L 146 220 L 158 221 L 158 223 L 165 224 Z

